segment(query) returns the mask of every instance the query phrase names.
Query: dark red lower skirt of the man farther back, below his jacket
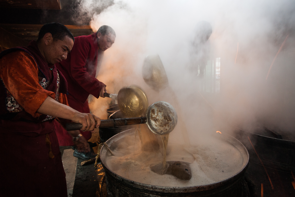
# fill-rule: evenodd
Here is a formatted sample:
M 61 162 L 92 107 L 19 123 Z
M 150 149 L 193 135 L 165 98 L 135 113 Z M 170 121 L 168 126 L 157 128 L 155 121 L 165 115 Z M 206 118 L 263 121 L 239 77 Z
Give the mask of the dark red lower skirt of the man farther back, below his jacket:
M 73 106 L 72 108 L 81 112 L 81 113 L 90 113 L 88 100 L 85 103 L 81 103 L 80 101 L 76 100 L 71 95 L 67 95 L 68 104 L 69 106 Z M 69 135 L 68 131 L 66 131 L 58 122 L 55 124 L 55 131 L 58 137 L 58 143 L 60 146 L 73 146 L 73 138 Z M 91 138 L 90 131 L 81 131 L 82 135 L 89 140 Z

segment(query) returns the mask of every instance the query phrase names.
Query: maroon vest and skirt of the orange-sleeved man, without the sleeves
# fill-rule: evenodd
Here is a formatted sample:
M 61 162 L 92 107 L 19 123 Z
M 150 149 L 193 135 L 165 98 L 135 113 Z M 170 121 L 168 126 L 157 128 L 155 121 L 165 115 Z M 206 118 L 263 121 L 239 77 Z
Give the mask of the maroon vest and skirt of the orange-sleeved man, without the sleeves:
M 46 84 L 44 89 L 56 95 L 67 92 L 63 75 L 54 65 L 47 64 L 35 40 L 27 48 L 12 48 L 2 52 L 0 58 L 14 51 L 25 51 L 34 58 L 39 80 L 41 78 L 39 83 Z M 49 66 L 53 69 L 53 75 Z M 7 96 L 7 89 L 2 81 L 0 86 L 3 99 L 4 95 Z M 55 99 L 58 100 L 58 96 Z M 23 108 L 9 111 L 8 105 L 4 104 L 1 100 L 0 196 L 67 197 L 65 172 L 54 131 L 54 117 L 40 115 L 35 118 Z

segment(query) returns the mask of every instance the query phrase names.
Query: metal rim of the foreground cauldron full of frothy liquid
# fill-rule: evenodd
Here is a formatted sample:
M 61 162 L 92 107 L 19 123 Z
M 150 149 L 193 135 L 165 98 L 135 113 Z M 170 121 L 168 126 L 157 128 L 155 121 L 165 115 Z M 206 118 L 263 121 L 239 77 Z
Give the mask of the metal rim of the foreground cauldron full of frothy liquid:
M 124 136 L 130 135 L 130 133 L 132 131 L 135 131 L 135 129 L 132 128 L 132 129 L 128 129 L 126 131 L 122 131 L 122 132 L 114 135 L 110 139 L 108 139 L 105 143 L 108 145 L 109 145 L 109 143 L 112 144 L 112 142 L 114 142 L 114 139 L 116 139 L 116 141 L 118 141 L 119 139 L 122 139 Z M 120 135 L 122 135 L 122 136 L 119 139 L 117 139 L 117 137 Z M 244 174 L 244 172 L 246 171 L 246 169 L 248 167 L 248 163 L 249 163 L 249 153 L 248 153 L 246 147 L 240 141 L 238 141 L 233 136 L 231 136 L 229 134 L 225 134 L 225 133 L 222 135 L 219 135 L 219 137 L 230 138 L 230 139 L 234 140 L 237 144 L 240 145 L 240 148 L 244 150 L 244 153 L 246 153 L 246 154 L 242 154 L 242 152 L 239 149 L 239 151 L 241 152 L 242 158 L 243 158 L 243 165 L 242 165 L 243 167 L 239 172 L 235 173 L 234 175 L 232 175 L 224 180 L 217 181 L 217 182 L 210 183 L 210 184 L 206 184 L 206 185 L 194 185 L 194 186 L 183 186 L 183 187 L 173 187 L 173 186 L 168 187 L 168 186 L 150 185 L 150 184 L 145 184 L 145 183 L 140 183 L 140 182 L 137 182 L 134 180 L 130 180 L 130 179 L 124 178 L 124 177 L 116 174 L 115 172 L 113 172 L 112 170 L 110 170 L 107 167 L 107 165 L 104 163 L 104 158 L 101 159 L 101 165 L 104 167 L 105 171 L 106 172 L 108 171 L 112 176 L 116 177 L 117 179 L 120 179 L 121 181 L 124 181 L 127 184 L 132 185 L 133 187 L 137 187 L 137 188 L 153 189 L 154 191 L 160 191 L 160 192 L 162 191 L 165 193 L 167 193 L 167 192 L 168 193 L 179 193 L 180 191 L 186 193 L 186 192 L 211 190 L 214 188 L 218 188 L 221 185 L 235 183 L 240 178 L 239 175 Z M 101 146 L 101 150 L 100 150 L 101 153 L 102 153 L 104 147 L 105 147 L 105 145 Z

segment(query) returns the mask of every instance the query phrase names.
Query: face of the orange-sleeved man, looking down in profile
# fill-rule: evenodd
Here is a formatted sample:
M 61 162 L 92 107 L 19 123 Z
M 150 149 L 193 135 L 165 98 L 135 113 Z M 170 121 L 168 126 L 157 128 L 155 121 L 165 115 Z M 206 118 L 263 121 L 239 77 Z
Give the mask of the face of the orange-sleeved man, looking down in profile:
M 47 63 L 55 64 L 67 58 L 73 48 L 74 41 L 68 36 L 65 36 L 63 40 L 53 40 L 51 37 L 45 45 L 44 57 Z

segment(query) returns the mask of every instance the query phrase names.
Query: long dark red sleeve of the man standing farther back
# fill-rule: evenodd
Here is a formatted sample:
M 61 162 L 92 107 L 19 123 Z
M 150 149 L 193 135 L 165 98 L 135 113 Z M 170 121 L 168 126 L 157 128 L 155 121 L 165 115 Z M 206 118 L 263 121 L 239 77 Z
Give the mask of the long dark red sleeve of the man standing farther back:
M 91 46 L 88 40 L 76 39 L 71 51 L 71 75 L 76 82 L 91 95 L 99 97 L 104 83 L 91 76 L 85 68 Z M 96 66 L 96 65 L 95 65 Z M 94 89 L 94 87 L 96 87 Z

